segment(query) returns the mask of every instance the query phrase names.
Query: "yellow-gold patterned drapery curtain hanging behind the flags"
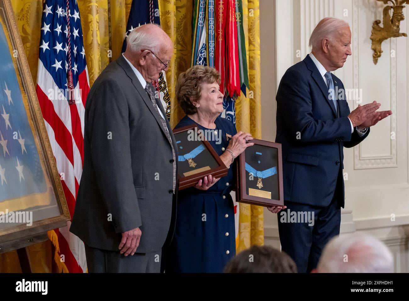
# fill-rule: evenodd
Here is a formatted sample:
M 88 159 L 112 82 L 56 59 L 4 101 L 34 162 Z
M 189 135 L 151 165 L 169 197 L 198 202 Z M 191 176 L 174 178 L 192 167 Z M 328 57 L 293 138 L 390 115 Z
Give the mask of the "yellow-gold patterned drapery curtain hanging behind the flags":
M 11 1 L 20 36 L 34 83 L 37 78 L 38 45 L 40 41 L 43 0 Z M 259 0 L 243 0 L 243 26 L 246 40 L 250 88 L 247 97 L 236 102 L 238 131 L 250 132 L 261 138 L 260 98 L 260 31 Z M 122 43 L 132 0 L 80 0 L 78 6 L 83 30 L 90 85 L 101 71 L 121 54 Z M 192 47 L 193 1 L 159 0 L 161 25 L 171 37 L 175 48 L 171 68 L 166 72 L 171 95 L 171 126 L 184 116 L 175 99 L 174 87 L 180 72 L 190 67 Z M 240 204 L 238 251 L 253 244 L 263 244 L 263 208 Z M 32 272 L 56 270 L 49 241 L 26 248 Z M 21 272 L 16 251 L 0 254 L 0 272 Z

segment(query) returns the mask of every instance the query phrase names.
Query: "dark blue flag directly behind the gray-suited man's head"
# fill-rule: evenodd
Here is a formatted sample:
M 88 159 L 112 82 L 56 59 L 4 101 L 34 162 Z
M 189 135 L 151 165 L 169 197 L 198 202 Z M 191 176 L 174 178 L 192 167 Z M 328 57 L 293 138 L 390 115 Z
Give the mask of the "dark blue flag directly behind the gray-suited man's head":
M 147 23 L 155 23 L 160 25 L 160 14 L 158 0 L 133 0 L 129 11 L 128 24 L 126 25 L 126 33 L 122 52 L 126 50 L 126 36 L 136 27 Z M 166 112 L 166 118 L 171 118 L 171 98 L 169 97 L 168 86 L 166 84 L 166 73 L 162 70 L 157 81 L 153 81 L 152 85 L 159 92 L 162 106 Z

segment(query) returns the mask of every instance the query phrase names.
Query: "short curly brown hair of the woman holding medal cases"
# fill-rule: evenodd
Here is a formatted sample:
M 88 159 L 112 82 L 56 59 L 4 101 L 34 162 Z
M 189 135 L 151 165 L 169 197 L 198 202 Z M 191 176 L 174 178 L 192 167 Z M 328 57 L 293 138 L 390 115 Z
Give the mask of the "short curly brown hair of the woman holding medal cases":
M 201 84 L 220 84 L 220 73 L 209 66 L 196 65 L 180 73 L 176 83 L 176 99 L 185 114 L 191 115 L 198 111 L 192 103 L 200 99 Z

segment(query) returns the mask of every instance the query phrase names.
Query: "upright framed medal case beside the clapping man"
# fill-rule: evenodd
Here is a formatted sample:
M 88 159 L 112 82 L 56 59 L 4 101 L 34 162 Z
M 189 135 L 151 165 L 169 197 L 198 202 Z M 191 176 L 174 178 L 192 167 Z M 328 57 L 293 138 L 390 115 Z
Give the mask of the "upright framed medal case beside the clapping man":
M 253 139 L 237 160 L 236 201 L 258 206 L 283 206 L 281 144 Z

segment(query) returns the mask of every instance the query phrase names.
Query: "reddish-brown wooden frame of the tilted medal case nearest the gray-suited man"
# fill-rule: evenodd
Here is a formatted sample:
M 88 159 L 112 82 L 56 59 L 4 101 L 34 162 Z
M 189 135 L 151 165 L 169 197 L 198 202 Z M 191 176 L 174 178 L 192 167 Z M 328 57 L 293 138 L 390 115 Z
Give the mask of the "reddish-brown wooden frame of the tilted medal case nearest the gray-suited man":
M 178 134 L 181 134 L 183 132 L 187 132 L 189 130 L 193 131 L 199 131 L 198 127 L 195 124 L 187 125 L 186 127 L 181 127 L 179 129 L 174 129 L 173 134 L 178 136 Z M 176 138 L 178 140 L 178 138 Z M 189 176 L 183 177 L 180 175 L 180 172 L 178 172 L 178 180 L 179 180 L 179 190 L 195 186 L 200 179 L 203 177 L 211 174 L 212 177 L 216 178 L 221 178 L 227 176 L 228 168 L 226 165 L 223 163 L 222 159 L 218 156 L 216 151 L 213 149 L 213 147 L 210 145 L 209 141 L 207 140 L 202 140 L 201 141 L 203 145 L 205 145 L 206 150 L 211 154 L 212 158 L 214 159 L 215 162 L 218 166 L 214 168 L 210 168 L 208 170 L 198 172 L 195 174 L 191 174 Z M 180 163 L 179 163 L 180 164 Z M 180 166 L 179 166 L 179 171 L 180 171 Z

